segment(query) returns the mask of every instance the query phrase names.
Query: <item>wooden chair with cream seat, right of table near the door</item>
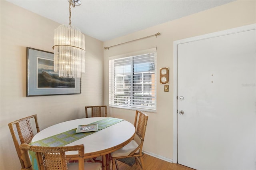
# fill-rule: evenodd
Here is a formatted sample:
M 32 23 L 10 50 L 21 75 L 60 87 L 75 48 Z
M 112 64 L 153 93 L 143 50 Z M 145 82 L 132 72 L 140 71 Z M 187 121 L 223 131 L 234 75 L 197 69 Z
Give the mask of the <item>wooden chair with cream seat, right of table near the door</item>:
M 137 118 L 138 124 L 137 124 Z M 140 164 L 142 170 L 144 170 L 144 163 L 142 160 L 142 146 L 144 142 L 144 137 L 146 133 L 146 127 L 148 122 L 148 115 L 143 113 L 142 111 L 136 111 L 135 115 L 135 121 L 134 121 L 134 127 L 136 128 L 136 135 L 140 138 L 140 144 L 138 144 L 134 139 L 125 145 L 124 147 L 120 148 L 119 150 L 116 150 L 115 152 L 112 152 L 110 154 L 110 159 L 112 159 L 112 170 L 116 169 L 119 170 L 118 164 L 116 159 L 120 158 L 130 158 L 135 157 L 136 164 Z

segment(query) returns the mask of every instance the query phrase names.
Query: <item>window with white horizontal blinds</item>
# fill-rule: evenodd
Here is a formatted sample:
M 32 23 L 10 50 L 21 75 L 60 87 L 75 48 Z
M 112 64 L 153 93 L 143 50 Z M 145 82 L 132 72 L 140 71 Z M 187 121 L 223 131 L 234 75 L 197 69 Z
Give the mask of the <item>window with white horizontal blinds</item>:
M 110 57 L 109 105 L 156 110 L 156 48 Z

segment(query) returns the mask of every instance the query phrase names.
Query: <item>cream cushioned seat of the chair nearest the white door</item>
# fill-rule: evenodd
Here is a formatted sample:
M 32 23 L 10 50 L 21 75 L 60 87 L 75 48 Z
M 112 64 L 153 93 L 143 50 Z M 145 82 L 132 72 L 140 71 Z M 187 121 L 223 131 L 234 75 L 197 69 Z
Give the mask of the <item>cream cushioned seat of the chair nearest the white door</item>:
M 135 140 L 132 140 L 130 143 L 125 145 L 124 147 L 116 150 L 115 152 L 111 153 L 112 157 L 120 157 L 120 156 L 128 156 L 134 149 L 136 149 L 139 145 Z M 140 149 L 138 149 L 135 153 L 140 152 Z

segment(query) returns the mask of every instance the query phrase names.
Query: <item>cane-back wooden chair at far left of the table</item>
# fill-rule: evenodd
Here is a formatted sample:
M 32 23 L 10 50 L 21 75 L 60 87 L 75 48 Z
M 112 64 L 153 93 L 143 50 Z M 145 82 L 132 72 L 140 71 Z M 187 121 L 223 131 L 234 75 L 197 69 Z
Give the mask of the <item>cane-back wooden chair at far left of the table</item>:
M 29 117 L 25 117 L 22 119 L 19 119 L 17 121 L 11 122 L 8 124 L 9 128 L 10 128 L 10 132 L 12 134 L 12 140 L 14 142 L 14 146 L 16 148 L 18 157 L 20 159 L 20 164 L 21 167 L 24 168 L 24 162 L 23 160 L 20 158 L 21 156 L 21 152 L 20 152 L 20 143 L 30 143 L 32 138 L 34 137 L 34 132 L 32 129 L 32 125 L 30 122 L 30 119 L 34 118 L 35 120 L 35 124 L 36 124 L 36 131 L 39 132 L 39 126 L 38 126 L 38 121 L 37 121 L 37 115 L 32 115 Z M 15 133 L 15 129 L 14 127 L 16 126 L 17 132 L 18 132 L 18 136 L 16 136 Z M 20 140 L 20 142 L 18 141 L 18 138 Z

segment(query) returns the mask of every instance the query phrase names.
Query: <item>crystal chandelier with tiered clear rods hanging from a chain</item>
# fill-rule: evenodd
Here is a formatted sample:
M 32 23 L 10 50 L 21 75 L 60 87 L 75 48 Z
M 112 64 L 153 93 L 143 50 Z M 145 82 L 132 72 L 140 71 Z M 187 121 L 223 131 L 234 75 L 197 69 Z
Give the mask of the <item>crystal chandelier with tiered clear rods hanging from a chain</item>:
M 54 30 L 54 71 L 60 77 L 80 78 L 85 73 L 85 38 L 78 28 L 71 26 L 71 5 L 80 0 L 69 1 L 69 26 L 60 25 Z

